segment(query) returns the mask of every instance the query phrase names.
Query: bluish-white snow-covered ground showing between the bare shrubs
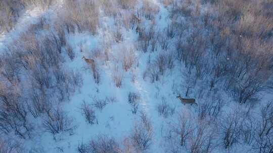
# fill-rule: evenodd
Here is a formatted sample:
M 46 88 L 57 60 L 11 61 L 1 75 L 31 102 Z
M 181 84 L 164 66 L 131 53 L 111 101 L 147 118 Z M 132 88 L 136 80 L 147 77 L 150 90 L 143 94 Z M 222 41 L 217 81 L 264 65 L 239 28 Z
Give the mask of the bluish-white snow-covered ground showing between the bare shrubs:
M 158 2 L 158 0 L 151 1 L 159 8 L 156 15 L 157 29 L 164 29 L 170 24 L 168 10 Z M 10 43 L 12 39 L 23 33 L 25 29 L 31 24 L 35 24 L 41 17 L 55 16 L 56 10 L 61 9 L 63 2 L 57 3 L 53 9 L 40 11 L 39 8 L 33 8 L 26 11 L 10 33 L 0 35 L 0 49 L 5 47 L 5 44 Z M 141 5 L 140 5 L 141 6 Z M 66 39 L 75 52 L 75 58 L 71 61 L 66 57 L 64 67 L 70 69 L 77 69 L 82 74 L 83 85 L 71 97 L 70 101 L 64 104 L 64 110 L 68 112 L 68 116 L 73 118 L 73 124 L 76 125 L 73 134 L 60 133 L 53 136 L 51 133 L 41 131 L 34 138 L 25 142 L 27 149 L 37 148 L 44 152 L 77 152 L 77 146 L 82 142 L 88 142 L 90 139 L 99 134 L 106 134 L 110 137 L 115 137 L 117 141 L 122 142 L 124 137 L 128 137 L 132 128 L 140 117 L 140 112 L 145 112 L 151 118 L 154 126 L 154 138 L 151 152 L 165 152 L 162 140 L 162 129 L 164 129 L 168 121 L 172 120 L 174 116 L 163 117 L 157 111 L 157 106 L 162 102 L 167 102 L 172 108 L 175 108 L 176 113 L 184 112 L 185 114 L 192 114 L 196 116 L 197 106 L 183 105 L 176 98 L 178 94 L 185 94 L 184 67 L 180 67 L 180 63 L 174 62 L 174 68 L 167 69 L 164 75 L 160 76 L 160 80 L 151 83 L 149 79 L 144 79 L 143 75 L 148 67 L 148 59 L 156 58 L 161 49 L 157 52 L 141 51 L 138 42 L 138 34 L 134 29 L 126 30 L 121 27 L 123 41 L 117 43 L 112 40 L 113 29 L 118 28 L 113 17 L 107 17 L 103 13 L 100 14 L 100 27 L 97 35 L 92 35 L 88 32 L 74 33 L 67 35 Z M 50 18 L 51 20 L 58 20 Z M 143 19 L 145 20 L 145 19 Z M 53 23 L 53 22 L 52 22 Z M 150 21 L 145 22 L 150 25 Z M 106 49 L 102 46 L 105 41 L 109 41 L 109 57 L 110 60 L 105 62 L 99 56 L 95 59 L 96 65 L 100 74 L 100 83 L 96 83 L 93 79 L 93 72 L 88 68 L 87 63 L 82 59 L 83 56 L 90 57 L 94 49 Z M 174 40 L 170 41 L 170 49 L 174 48 Z M 80 51 L 82 46 L 82 52 Z M 124 48 L 132 48 L 135 50 L 138 61 L 132 67 L 125 71 L 122 69 L 122 64 L 116 60 L 124 52 Z M 116 87 L 113 77 L 115 75 L 122 75 L 122 85 L 120 88 Z M 132 114 L 131 106 L 128 104 L 129 92 L 139 93 L 140 106 L 138 113 Z M 195 91 L 192 92 L 193 97 L 197 96 Z M 224 95 L 223 95 L 224 96 Z M 90 125 L 85 121 L 81 114 L 81 104 L 85 101 L 87 104 L 93 104 L 93 99 L 112 99 L 112 102 L 102 109 L 95 108 L 98 123 Z M 198 103 L 198 99 L 197 99 Z M 225 110 L 232 106 L 227 105 Z M 175 114 L 176 114 L 175 113 Z M 219 151 L 219 150 L 217 150 Z M 232 152 L 240 152 L 240 149 L 232 150 Z M 242 151 L 242 150 L 241 150 Z M 219 151 L 220 152 L 220 151 Z

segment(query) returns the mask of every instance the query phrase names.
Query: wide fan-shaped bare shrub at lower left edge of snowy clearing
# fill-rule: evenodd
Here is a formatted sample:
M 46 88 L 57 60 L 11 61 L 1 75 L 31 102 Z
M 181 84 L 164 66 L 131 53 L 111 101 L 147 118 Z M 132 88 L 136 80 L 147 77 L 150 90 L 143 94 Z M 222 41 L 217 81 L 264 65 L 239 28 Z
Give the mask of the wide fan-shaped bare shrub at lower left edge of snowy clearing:
M 43 119 L 43 127 L 45 131 L 52 134 L 60 132 L 69 132 L 72 134 L 75 129 L 73 119 L 59 107 L 48 112 L 47 116 Z

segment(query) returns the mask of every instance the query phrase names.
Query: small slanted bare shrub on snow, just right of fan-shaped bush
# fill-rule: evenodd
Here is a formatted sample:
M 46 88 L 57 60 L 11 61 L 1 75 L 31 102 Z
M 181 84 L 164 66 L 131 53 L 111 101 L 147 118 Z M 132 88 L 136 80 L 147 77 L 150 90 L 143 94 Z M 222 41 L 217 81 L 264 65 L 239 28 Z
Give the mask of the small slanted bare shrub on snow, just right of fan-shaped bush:
M 95 124 L 95 122 L 98 122 L 95 111 L 90 105 L 86 104 L 85 101 L 83 101 L 83 103 L 81 104 L 80 109 L 82 115 L 85 117 L 86 121 L 89 124 Z

